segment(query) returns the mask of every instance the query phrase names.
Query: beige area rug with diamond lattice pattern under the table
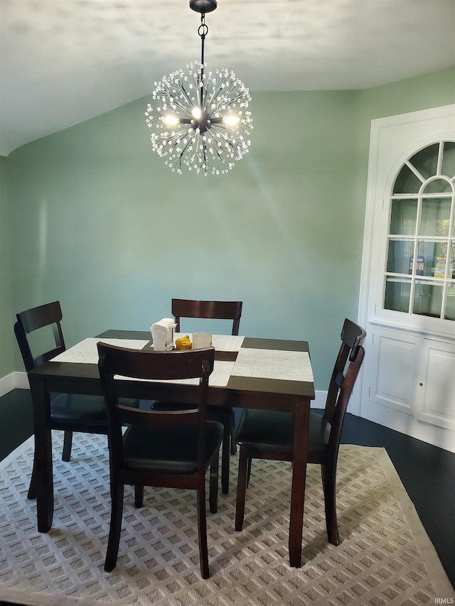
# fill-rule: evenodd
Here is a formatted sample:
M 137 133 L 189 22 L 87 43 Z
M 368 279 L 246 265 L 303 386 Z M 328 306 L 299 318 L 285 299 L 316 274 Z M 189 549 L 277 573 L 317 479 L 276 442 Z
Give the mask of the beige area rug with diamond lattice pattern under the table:
M 0 600 L 402 606 L 455 595 L 387 453 L 360 446 L 341 447 L 338 547 L 326 538 L 319 467 L 309 466 L 299 569 L 288 562 L 289 464 L 254 462 L 244 529 L 235 532 L 234 457 L 230 494 L 220 494 L 218 513 L 208 515 L 210 579 L 199 573 L 196 495 L 171 489 L 145 489 L 144 507 L 134 509 L 127 487 L 117 568 L 105 573 L 107 440 L 75 434 L 72 460 L 65 463 L 59 458 L 62 437 L 53 432 L 55 514 L 48 534 L 36 531 L 36 505 L 26 498 L 33 441 L 0 463 Z

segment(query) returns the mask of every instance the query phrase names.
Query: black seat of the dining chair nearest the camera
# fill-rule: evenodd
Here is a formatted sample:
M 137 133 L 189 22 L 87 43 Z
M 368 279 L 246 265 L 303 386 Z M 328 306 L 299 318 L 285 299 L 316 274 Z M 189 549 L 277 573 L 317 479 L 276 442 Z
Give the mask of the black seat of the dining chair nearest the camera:
M 208 466 L 220 448 L 223 425 L 207 422 L 205 463 Z M 154 428 L 131 426 L 123 438 L 124 464 L 132 471 L 188 474 L 196 472 L 198 440 L 188 427 Z

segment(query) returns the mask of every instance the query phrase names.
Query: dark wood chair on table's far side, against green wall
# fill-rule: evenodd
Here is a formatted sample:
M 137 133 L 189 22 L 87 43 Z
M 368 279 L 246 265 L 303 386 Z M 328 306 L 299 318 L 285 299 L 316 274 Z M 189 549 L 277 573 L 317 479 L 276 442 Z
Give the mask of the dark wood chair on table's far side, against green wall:
M 176 321 L 176 332 L 180 332 L 181 318 L 203 318 L 213 320 L 232 320 L 232 335 L 239 334 L 242 301 L 194 301 L 191 299 L 172 299 L 171 309 Z M 154 402 L 154 408 L 161 408 L 161 402 Z M 176 408 L 180 403 L 173 403 Z M 235 418 L 229 406 L 209 406 L 210 421 L 223 423 L 223 450 L 221 455 L 221 490 L 229 492 L 230 454 L 235 454 Z

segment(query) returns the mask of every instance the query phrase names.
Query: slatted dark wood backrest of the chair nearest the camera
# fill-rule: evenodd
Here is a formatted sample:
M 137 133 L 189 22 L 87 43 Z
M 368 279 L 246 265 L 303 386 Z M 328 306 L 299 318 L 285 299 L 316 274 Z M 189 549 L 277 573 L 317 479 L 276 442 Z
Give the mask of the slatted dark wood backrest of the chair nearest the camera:
M 100 356 L 98 368 L 109 424 L 109 450 L 114 464 L 122 465 L 122 426 L 124 425 L 188 426 L 188 428 L 193 426 L 198 433 L 197 461 L 198 467 L 202 470 L 205 464 L 208 377 L 213 371 L 215 360 L 213 347 L 205 350 L 170 352 L 129 350 L 102 342 L 98 343 L 97 347 Z M 117 394 L 117 386 L 122 379 L 114 379 L 114 375 L 151 381 L 199 379 L 198 384 L 191 387 L 190 404 L 194 404 L 195 407 L 178 411 L 157 411 L 153 408 L 144 410 L 124 406 L 119 404 Z M 153 383 L 150 384 L 150 388 L 153 397 Z M 160 399 L 165 399 L 162 384 L 160 388 Z

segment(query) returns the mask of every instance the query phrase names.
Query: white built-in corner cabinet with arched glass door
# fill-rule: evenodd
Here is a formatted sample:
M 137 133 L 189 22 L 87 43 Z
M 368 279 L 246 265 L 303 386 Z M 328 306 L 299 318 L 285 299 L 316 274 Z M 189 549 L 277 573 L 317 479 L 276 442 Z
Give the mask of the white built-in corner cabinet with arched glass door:
M 360 416 L 455 452 L 455 106 L 373 120 Z

